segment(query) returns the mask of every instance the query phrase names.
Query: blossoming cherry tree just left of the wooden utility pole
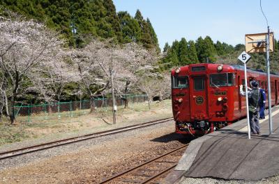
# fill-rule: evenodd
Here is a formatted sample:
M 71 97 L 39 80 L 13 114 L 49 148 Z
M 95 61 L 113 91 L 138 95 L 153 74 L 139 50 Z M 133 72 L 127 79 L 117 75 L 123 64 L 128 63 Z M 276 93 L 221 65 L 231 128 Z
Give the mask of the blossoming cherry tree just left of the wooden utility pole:
M 81 90 L 90 97 L 91 112 L 95 109 L 94 98 L 109 85 L 109 74 L 105 74 L 102 63 L 107 60 L 105 44 L 99 40 L 92 40 L 83 49 L 75 49 L 71 58 L 75 63 L 80 77 Z

